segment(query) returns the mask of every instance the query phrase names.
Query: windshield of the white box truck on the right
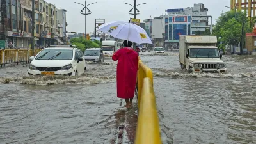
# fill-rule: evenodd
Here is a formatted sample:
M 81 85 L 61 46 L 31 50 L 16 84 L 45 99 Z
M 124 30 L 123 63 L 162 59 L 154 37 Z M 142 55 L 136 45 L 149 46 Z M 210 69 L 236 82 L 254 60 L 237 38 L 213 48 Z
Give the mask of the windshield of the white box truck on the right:
M 190 58 L 219 58 L 217 48 L 193 48 L 190 49 Z

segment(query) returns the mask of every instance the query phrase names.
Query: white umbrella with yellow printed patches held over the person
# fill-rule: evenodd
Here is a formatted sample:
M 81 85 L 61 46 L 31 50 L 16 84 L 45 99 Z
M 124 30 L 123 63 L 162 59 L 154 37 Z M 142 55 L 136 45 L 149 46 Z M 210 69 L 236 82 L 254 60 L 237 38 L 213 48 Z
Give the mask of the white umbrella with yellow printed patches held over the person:
M 129 40 L 136 44 L 152 44 L 150 37 L 143 28 L 129 22 L 108 22 L 99 26 L 99 31 L 107 33 L 114 38 Z

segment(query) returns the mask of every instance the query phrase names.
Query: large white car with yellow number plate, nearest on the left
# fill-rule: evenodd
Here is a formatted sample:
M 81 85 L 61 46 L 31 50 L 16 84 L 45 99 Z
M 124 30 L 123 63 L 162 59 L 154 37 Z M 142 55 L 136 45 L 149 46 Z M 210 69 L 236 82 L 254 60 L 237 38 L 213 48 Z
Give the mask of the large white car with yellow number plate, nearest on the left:
M 80 76 L 86 70 L 83 55 L 72 45 L 50 45 L 29 58 L 28 74 Z

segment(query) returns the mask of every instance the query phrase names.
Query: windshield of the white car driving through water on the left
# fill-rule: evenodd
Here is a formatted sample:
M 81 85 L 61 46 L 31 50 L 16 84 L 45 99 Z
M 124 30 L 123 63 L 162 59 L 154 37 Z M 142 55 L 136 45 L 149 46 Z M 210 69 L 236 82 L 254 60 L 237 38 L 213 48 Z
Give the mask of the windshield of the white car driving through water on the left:
M 44 49 L 37 56 L 36 60 L 72 60 L 72 49 Z

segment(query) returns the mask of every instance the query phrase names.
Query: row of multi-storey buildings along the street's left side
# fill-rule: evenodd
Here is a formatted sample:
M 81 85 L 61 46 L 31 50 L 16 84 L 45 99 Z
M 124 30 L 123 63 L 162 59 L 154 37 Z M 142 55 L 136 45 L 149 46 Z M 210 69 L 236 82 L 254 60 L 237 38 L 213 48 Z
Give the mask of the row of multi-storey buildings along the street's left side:
M 32 0 L 0 0 L 1 28 L 0 38 L 6 47 L 29 47 L 32 43 Z M 58 9 L 44 0 L 35 0 L 36 45 L 63 44 L 59 40 Z

